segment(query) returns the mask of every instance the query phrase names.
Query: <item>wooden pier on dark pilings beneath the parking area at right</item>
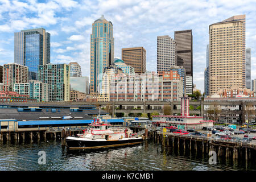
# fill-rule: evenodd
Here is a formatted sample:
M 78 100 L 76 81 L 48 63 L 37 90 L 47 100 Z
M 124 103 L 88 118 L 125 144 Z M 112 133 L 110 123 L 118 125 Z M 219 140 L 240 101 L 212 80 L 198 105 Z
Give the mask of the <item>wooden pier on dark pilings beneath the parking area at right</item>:
M 148 131 L 147 139 L 184 154 L 208 155 L 210 151 L 214 151 L 218 158 L 246 161 L 255 161 L 256 159 L 256 143 L 253 142 L 233 142 L 232 140 L 220 140 L 212 137 L 163 133 L 156 130 Z

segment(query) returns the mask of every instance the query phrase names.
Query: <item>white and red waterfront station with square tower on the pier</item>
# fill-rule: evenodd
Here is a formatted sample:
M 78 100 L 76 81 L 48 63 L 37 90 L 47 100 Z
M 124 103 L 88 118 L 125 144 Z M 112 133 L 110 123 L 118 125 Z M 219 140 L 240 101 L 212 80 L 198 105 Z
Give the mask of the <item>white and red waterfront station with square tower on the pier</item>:
M 203 117 L 189 115 L 189 98 L 181 98 L 181 115 L 153 115 L 152 123 L 156 126 L 174 126 L 183 129 L 201 129 L 213 127 L 212 120 L 203 120 Z

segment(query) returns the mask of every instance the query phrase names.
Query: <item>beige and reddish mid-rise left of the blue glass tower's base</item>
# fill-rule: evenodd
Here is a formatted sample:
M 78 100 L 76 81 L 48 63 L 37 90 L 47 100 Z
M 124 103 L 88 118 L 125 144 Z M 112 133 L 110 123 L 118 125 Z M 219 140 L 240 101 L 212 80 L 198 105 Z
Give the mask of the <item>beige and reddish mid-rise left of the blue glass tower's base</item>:
M 14 84 L 28 82 L 28 67 L 16 63 L 3 65 L 3 84 L 13 91 Z

